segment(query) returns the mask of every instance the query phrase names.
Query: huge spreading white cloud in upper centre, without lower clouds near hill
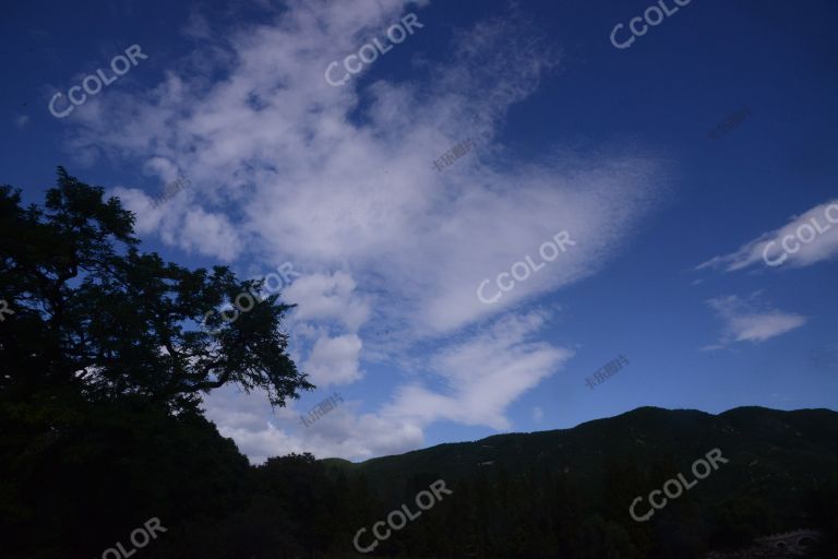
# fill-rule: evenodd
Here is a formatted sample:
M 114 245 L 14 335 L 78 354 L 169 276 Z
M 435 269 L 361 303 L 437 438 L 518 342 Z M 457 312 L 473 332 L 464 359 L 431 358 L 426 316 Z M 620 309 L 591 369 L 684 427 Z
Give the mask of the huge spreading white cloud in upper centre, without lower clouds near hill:
M 457 34 L 451 62 L 417 70 L 429 80 L 372 84 L 359 124 L 350 118 L 357 80 L 333 87 L 323 71 L 396 21 L 403 4 L 363 2 L 351 14 L 316 1 L 289 8 L 278 22 L 232 34 L 229 79 L 207 86 L 172 70 L 146 98 L 103 99 L 113 103 L 108 118 L 76 139 L 80 148 L 177 162 L 191 178 L 192 204 L 167 203 L 171 218 L 155 221 L 165 241 L 223 260 L 258 248 L 267 260 L 345 271 L 386 295 L 388 320 L 409 318 L 414 335 L 438 335 L 594 273 L 655 200 L 660 166 L 648 158 L 556 150 L 541 164 L 503 162 L 495 130 L 556 60 L 528 23 L 480 23 Z M 435 171 L 432 159 L 466 136 L 483 147 Z M 235 221 L 222 214 L 228 207 Z M 184 230 L 185 212 L 194 226 Z M 477 299 L 483 278 L 560 230 L 578 250 L 498 305 Z

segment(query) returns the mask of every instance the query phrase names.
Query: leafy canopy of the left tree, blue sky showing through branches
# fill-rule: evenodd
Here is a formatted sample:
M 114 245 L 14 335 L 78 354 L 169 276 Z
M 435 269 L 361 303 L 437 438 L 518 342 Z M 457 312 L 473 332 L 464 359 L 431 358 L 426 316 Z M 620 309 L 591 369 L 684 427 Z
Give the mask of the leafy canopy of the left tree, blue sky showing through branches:
M 273 405 L 314 386 L 286 353 L 288 305 L 272 295 L 235 322 L 208 310 L 260 282 L 226 266 L 188 270 L 142 253 L 134 216 L 59 167 L 44 207 L 0 187 L 0 399 L 44 390 L 87 400 L 131 396 L 171 409 L 234 383 Z

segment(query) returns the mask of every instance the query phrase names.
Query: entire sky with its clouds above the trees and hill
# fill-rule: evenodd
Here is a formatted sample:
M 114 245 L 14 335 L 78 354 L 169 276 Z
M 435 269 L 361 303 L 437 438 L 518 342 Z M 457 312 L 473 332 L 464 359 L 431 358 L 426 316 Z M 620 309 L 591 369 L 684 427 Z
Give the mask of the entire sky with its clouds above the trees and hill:
M 146 250 L 248 277 L 292 265 L 287 329 L 318 390 L 275 413 L 261 394 L 206 401 L 255 462 L 644 405 L 835 409 L 838 5 L 692 0 L 616 48 L 612 29 L 628 40 L 654 5 L 19 3 L 0 23 L 0 181 L 40 202 L 64 165 L 136 212 Z M 386 52 L 330 85 L 373 38 Z M 50 114 L 134 45 L 147 58 Z M 178 175 L 189 186 L 148 207 Z M 541 260 L 560 231 L 573 243 Z M 786 237 L 800 249 L 768 265 Z M 537 272 L 478 299 L 526 257 Z

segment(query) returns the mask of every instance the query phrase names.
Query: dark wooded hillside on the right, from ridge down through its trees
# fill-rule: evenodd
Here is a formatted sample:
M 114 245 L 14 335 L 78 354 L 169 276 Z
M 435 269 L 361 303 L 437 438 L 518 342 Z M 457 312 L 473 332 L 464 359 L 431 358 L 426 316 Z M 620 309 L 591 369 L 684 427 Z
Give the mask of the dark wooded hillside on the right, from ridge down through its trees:
M 642 498 L 643 514 L 651 510 L 650 491 L 678 474 L 695 479 L 693 463 L 713 449 L 728 462 L 650 522 L 631 518 L 634 499 Z M 829 409 L 711 415 L 642 407 L 572 429 L 498 435 L 360 464 L 323 462 L 362 476 L 382 518 L 435 479 L 454 490 L 439 512 L 418 521 L 428 527 L 411 528 L 421 536 L 399 534 L 400 543 L 382 547 L 385 555 L 421 548 L 417 542 L 440 531 L 443 540 L 458 542 L 445 548 L 452 557 L 470 549 L 487 557 L 523 549 L 528 557 L 548 549 L 567 557 L 698 557 L 759 535 L 838 528 L 838 413 Z

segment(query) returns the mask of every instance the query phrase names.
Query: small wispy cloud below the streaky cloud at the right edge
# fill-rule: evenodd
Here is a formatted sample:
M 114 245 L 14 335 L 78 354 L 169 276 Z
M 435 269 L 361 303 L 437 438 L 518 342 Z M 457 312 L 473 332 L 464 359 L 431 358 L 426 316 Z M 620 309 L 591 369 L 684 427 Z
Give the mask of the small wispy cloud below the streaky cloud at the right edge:
M 723 347 L 732 342 L 764 342 L 800 328 L 806 322 L 806 317 L 773 310 L 762 304 L 759 293 L 747 299 L 735 295 L 717 297 L 708 300 L 707 305 L 725 321 L 725 332 L 720 343 L 708 348 Z

